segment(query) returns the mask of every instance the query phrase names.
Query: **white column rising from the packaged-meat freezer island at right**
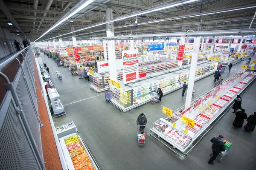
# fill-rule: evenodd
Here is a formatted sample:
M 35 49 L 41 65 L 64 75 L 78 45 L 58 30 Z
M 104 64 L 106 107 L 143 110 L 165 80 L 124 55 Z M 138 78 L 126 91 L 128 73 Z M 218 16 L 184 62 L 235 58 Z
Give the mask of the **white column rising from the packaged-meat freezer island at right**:
M 194 83 L 195 83 L 195 71 L 196 71 L 196 65 L 198 62 L 200 39 L 201 39 L 201 37 L 194 38 L 194 46 L 193 46 L 191 67 L 190 67 L 190 72 L 189 72 L 189 85 L 188 85 L 188 90 L 187 90 L 187 95 L 186 95 L 185 109 L 190 107 L 190 103 L 191 103 L 191 99 L 192 99 L 192 93 L 193 93 L 193 88 L 194 88 Z

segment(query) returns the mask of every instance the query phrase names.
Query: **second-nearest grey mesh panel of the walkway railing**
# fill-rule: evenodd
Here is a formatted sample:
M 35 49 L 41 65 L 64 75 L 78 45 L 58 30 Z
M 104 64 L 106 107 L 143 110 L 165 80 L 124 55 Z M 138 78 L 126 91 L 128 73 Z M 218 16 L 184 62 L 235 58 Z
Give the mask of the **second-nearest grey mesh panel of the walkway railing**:
M 23 103 L 21 105 L 21 107 L 26 116 L 26 120 L 29 124 L 32 135 L 35 139 L 35 143 L 38 147 L 40 156 L 41 156 L 41 158 L 43 158 L 42 149 L 41 149 L 39 121 L 36 116 L 37 113 L 35 113 L 35 110 L 32 107 L 32 102 L 31 102 L 31 99 L 29 98 L 29 92 L 26 88 L 26 84 L 25 84 L 23 77 L 20 76 L 20 78 L 17 81 L 18 81 L 18 84 L 17 84 L 16 92 L 17 92 L 20 102 Z

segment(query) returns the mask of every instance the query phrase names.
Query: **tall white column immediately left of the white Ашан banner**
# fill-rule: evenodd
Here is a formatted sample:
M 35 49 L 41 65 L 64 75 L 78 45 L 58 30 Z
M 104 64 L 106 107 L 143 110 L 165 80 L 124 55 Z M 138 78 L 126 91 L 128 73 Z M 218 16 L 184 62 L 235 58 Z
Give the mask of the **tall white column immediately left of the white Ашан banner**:
M 106 8 L 106 21 L 113 19 L 113 9 L 112 8 Z M 113 23 L 106 24 L 107 30 L 107 37 L 113 37 L 114 30 L 111 29 L 114 27 Z M 114 81 L 117 81 L 116 79 L 116 49 L 115 49 L 115 41 L 111 40 L 108 41 L 108 65 L 109 65 L 109 74 L 110 79 L 113 79 Z

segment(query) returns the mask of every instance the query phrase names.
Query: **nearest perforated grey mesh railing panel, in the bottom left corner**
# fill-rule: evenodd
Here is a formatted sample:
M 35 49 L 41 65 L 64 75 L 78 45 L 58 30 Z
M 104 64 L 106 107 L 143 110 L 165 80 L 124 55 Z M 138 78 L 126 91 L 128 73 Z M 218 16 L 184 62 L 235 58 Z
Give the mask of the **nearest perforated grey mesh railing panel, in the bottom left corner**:
M 12 100 L 0 125 L 0 170 L 40 170 Z

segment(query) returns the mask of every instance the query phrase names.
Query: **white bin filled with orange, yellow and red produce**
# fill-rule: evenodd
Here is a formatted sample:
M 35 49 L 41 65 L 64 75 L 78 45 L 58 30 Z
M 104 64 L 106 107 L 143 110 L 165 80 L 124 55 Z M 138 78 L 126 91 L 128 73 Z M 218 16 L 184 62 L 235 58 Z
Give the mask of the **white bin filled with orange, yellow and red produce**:
M 67 141 L 68 139 L 73 138 Z M 99 166 L 93 158 L 90 150 L 77 133 L 64 136 L 59 139 L 63 155 L 69 170 L 89 168 L 99 170 Z M 77 152 L 76 152 L 77 150 Z

